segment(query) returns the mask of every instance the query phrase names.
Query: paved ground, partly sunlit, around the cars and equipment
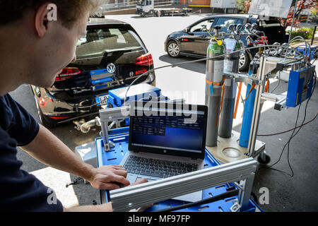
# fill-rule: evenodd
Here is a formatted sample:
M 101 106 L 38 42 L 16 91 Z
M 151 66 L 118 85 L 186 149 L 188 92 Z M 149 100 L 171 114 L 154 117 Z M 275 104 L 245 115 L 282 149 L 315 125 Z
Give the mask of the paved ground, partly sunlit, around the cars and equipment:
M 204 15 L 175 16 L 160 18 L 141 18 L 136 15 L 106 16 L 130 23 L 141 35 L 142 40 L 153 55 L 155 68 L 184 61 L 191 61 L 192 58 L 184 57 L 171 59 L 164 52 L 164 42 L 171 32 L 182 30 Z M 157 70 L 157 86 L 171 99 L 183 97 L 188 103 L 204 105 L 205 102 L 205 62 L 184 64 L 174 68 Z M 273 88 L 278 84 L 277 80 L 271 81 Z M 243 85 L 244 86 L 244 85 Z M 281 82 L 276 93 L 284 93 L 287 84 Z M 246 89 L 242 90 L 245 97 Z M 318 90 L 316 89 L 307 109 L 306 121 L 314 117 L 318 106 Z M 22 85 L 11 93 L 13 98 L 20 102 L 30 114 L 39 121 L 35 101 L 28 85 Z M 305 105 L 300 111 L 300 119 L 304 116 Z M 242 103 L 234 121 L 234 130 L 240 131 L 242 122 Z M 259 134 L 276 133 L 293 128 L 298 109 L 290 108 L 283 112 L 273 110 L 273 103 L 265 102 L 262 109 Z M 299 120 L 302 121 L 302 120 Z M 266 169 L 257 173 L 254 181 L 254 194 L 258 197 L 261 188 L 269 189 L 269 204 L 261 205 L 266 211 L 317 211 L 318 210 L 318 180 L 317 174 L 317 150 L 318 150 L 318 120 L 303 126 L 298 136 L 295 136 L 290 145 L 290 165 L 293 167 L 294 177 L 288 176 L 290 168 L 287 161 L 287 151 L 282 155 L 281 161 L 276 165 L 286 173 Z M 74 150 L 77 145 L 89 143 L 98 137 L 100 129 L 83 134 L 74 129 L 73 124 L 64 124 L 51 130 L 66 145 Z M 280 156 L 283 145 L 290 138 L 290 133 L 279 136 L 261 136 L 259 140 L 266 143 L 266 153 L 271 156 L 272 162 L 276 162 Z M 45 151 L 45 147 L 43 147 Z M 66 207 L 77 205 L 89 205 L 93 200 L 99 203 L 99 191 L 93 189 L 89 184 L 78 182 L 78 184 L 66 188 L 66 183 L 76 179 L 68 173 L 59 172 L 55 169 L 42 165 L 22 150 L 18 152 L 18 159 L 23 161 L 23 169 L 35 174 L 41 181 L 50 186 L 57 193 L 57 197 Z

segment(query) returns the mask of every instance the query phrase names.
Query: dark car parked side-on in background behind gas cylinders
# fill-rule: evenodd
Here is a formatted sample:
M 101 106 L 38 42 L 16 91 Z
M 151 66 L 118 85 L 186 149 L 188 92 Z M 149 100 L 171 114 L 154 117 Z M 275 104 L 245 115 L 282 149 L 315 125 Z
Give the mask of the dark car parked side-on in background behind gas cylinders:
M 227 15 L 214 15 L 202 18 L 201 20 L 192 23 L 184 30 L 173 32 L 168 35 L 165 40 L 165 52 L 170 57 L 206 57 L 206 50 L 210 42 L 211 36 L 208 35 L 207 30 L 215 26 L 220 26 L 220 32 L 229 33 L 228 30 L 231 24 L 257 23 L 258 29 L 264 31 L 268 37 L 269 44 L 279 42 L 283 44 L 288 42 L 288 35 L 277 18 L 269 18 L 268 20 L 261 20 L 258 16 L 248 14 L 227 14 Z M 211 32 L 211 35 L 214 33 Z M 226 36 L 225 36 L 226 37 Z M 245 47 L 249 46 L 246 36 L 241 37 Z M 249 67 L 257 49 L 254 51 L 242 51 L 240 54 L 240 71 L 245 71 Z

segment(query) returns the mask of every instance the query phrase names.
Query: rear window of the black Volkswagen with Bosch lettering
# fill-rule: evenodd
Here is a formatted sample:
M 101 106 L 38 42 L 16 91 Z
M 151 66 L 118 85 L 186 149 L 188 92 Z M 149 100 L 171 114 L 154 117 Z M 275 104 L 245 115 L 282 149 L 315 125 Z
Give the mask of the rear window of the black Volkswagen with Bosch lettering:
M 133 30 L 126 28 L 89 29 L 87 35 L 78 40 L 77 59 L 102 57 L 107 51 L 139 50 L 143 43 Z

